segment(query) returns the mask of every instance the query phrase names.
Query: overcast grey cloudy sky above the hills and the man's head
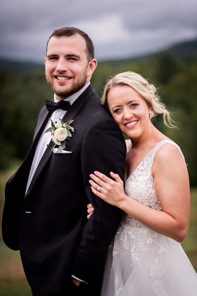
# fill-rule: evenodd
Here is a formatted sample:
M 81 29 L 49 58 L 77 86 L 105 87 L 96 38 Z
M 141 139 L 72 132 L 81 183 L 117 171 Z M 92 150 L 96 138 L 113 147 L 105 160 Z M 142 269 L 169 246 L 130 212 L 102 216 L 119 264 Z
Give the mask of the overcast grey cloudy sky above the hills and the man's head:
M 65 26 L 88 33 L 99 60 L 138 56 L 197 37 L 197 0 L 1 0 L 0 58 L 42 62 Z

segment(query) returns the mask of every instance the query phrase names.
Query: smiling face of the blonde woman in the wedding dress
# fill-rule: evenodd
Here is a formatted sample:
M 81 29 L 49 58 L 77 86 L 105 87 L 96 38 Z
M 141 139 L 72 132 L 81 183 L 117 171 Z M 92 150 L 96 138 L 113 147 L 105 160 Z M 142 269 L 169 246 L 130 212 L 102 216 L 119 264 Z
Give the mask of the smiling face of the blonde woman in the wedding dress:
M 142 136 L 152 124 L 146 101 L 131 86 L 115 86 L 107 95 L 109 111 L 118 123 L 122 133 L 131 139 Z

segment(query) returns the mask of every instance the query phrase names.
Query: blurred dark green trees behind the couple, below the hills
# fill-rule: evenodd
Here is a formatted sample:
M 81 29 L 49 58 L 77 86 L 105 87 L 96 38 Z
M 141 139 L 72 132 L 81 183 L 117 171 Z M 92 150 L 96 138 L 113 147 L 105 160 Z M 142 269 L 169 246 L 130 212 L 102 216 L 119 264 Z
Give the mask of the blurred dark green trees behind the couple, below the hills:
M 197 42 L 193 43 L 196 49 L 193 47 L 191 51 L 179 46 L 174 51 L 135 59 L 100 61 L 91 82 L 101 95 L 110 76 L 131 70 L 156 86 L 179 129 L 164 126 L 159 115 L 154 124 L 181 147 L 194 186 L 197 185 Z M 0 170 L 9 166 L 13 157 L 25 157 L 32 143 L 36 114 L 45 99 L 52 98 L 43 65 L 0 61 Z

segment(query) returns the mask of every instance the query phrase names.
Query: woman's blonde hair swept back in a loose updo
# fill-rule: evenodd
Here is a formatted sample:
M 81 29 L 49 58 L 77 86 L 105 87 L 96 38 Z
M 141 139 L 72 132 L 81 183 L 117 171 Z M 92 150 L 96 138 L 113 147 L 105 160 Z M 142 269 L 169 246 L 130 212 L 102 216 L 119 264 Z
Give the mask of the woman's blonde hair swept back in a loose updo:
M 153 117 L 157 114 L 163 114 L 164 124 L 168 127 L 176 127 L 173 124 L 174 121 L 171 118 L 169 111 L 167 111 L 164 103 L 160 101 L 160 97 L 157 94 L 155 86 L 153 84 L 149 84 L 148 81 L 140 74 L 131 71 L 117 74 L 107 81 L 101 98 L 102 105 L 108 108 L 107 95 L 111 88 L 124 85 L 131 86 L 135 89 L 146 101 L 146 103 L 153 108 Z

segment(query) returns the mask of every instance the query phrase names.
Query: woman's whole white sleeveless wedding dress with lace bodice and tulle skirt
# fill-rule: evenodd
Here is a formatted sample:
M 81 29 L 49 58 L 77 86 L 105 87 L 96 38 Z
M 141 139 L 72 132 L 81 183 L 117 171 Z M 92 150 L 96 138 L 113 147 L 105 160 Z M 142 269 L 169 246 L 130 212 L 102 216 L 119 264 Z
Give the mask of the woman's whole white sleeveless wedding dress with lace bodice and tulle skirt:
M 152 164 L 165 143 L 180 150 L 174 142 L 163 140 L 125 184 L 128 196 L 158 211 L 162 206 L 154 187 Z M 197 296 L 197 273 L 180 243 L 125 213 L 108 252 L 101 296 Z

